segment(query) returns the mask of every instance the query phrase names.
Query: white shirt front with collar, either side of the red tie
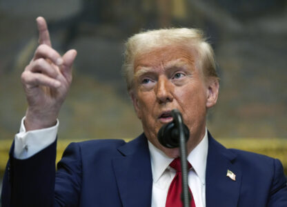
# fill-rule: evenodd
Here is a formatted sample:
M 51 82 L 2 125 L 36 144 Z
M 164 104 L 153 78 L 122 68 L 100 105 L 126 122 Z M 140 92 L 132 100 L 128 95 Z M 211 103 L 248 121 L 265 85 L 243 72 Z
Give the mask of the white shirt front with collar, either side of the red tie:
M 173 158 L 164 154 L 148 141 L 152 166 L 152 207 L 166 206 L 168 188 L 176 171 L 169 164 Z M 207 129 L 204 139 L 190 152 L 188 161 L 192 168 L 188 172 L 188 186 L 195 199 L 195 206 L 206 206 L 206 160 L 208 153 Z

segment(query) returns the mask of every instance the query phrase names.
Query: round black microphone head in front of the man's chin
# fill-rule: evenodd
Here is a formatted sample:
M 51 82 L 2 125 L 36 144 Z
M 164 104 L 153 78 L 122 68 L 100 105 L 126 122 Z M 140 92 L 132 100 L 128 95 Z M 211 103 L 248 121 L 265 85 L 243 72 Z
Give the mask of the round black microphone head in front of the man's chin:
M 181 112 L 179 112 L 179 110 L 172 110 L 171 115 L 173 118 L 172 121 L 159 129 L 157 139 L 159 139 L 159 143 L 166 148 L 177 148 L 179 147 L 179 129 L 183 128 L 185 141 L 188 141 L 189 130 L 184 124 L 184 121 L 182 121 Z

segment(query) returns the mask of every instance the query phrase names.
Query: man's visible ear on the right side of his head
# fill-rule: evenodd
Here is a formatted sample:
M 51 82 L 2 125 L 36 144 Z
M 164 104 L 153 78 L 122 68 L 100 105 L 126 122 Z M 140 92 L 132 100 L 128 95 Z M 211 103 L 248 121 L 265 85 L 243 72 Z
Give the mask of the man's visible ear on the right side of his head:
M 206 99 L 206 108 L 211 108 L 217 103 L 218 92 L 219 92 L 219 82 L 215 77 L 208 78 L 207 81 L 207 99 Z

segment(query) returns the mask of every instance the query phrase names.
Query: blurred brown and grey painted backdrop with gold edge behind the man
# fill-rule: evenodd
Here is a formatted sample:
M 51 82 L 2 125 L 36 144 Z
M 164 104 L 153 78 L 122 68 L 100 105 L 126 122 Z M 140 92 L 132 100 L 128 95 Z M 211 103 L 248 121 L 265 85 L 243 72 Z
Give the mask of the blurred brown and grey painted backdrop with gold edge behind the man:
M 206 32 L 221 79 L 208 115 L 212 135 L 287 167 L 287 1 L 1 0 L 0 180 L 25 115 L 20 75 L 37 48 L 38 16 L 56 50 L 78 51 L 59 116 L 59 151 L 70 140 L 137 137 L 141 124 L 121 77 L 123 43 L 141 30 L 192 27 Z

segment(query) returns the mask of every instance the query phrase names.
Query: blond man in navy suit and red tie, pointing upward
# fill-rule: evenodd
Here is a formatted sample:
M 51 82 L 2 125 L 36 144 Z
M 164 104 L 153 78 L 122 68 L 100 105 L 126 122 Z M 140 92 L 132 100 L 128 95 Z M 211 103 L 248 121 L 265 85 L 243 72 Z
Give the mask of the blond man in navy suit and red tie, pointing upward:
M 61 57 L 51 47 L 45 20 L 39 17 L 37 24 L 40 46 L 21 76 L 28 110 L 10 151 L 3 206 L 178 206 L 170 189 L 179 190 L 174 181 L 181 172 L 173 165 L 179 149 L 157 140 L 174 108 L 190 131 L 192 206 L 287 206 L 279 160 L 228 150 L 207 131 L 206 113 L 217 102 L 219 81 L 212 48 L 194 29 L 153 30 L 128 39 L 124 70 L 143 134 L 129 143 L 70 144 L 55 173 L 57 115 L 77 52 Z

